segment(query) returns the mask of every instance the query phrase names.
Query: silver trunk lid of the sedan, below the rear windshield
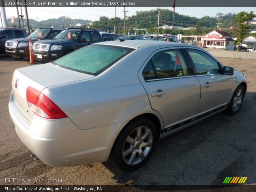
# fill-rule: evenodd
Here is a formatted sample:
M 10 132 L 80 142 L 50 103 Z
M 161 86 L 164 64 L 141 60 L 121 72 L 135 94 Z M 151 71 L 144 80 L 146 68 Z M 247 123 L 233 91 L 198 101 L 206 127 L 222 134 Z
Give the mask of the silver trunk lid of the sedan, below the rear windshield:
M 94 76 L 61 68 L 52 63 L 16 69 L 12 78 L 15 105 L 27 122 L 31 123 L 34 113 L 28 108 L 28 86 L 41 92 L 46 87 L 86 80 L 92 77 Z

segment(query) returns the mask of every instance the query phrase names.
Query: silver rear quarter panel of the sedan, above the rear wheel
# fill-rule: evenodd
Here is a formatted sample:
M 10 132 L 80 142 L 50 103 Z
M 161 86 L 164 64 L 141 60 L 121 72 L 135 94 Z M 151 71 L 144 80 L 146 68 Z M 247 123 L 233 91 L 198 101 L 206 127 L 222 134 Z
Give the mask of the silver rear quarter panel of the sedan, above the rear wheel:
M 155 114 L 162 124 L 138 78 L 151 53 L 145 51 L 133 51 L 92 79 L 48 87 L 43 93 L 83 130 L 126 122 L 144 113 Z

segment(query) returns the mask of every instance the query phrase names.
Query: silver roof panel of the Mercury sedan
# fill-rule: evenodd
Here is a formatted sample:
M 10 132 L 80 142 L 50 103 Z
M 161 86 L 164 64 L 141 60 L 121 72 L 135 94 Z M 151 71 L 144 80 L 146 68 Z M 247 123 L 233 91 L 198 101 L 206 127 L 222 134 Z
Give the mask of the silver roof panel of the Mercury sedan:
M 138 49 L 140 47 L 149 46 L 149 45 L 156 45 L 157 47 L 164 48 L 164 47 L 176 47 L 176 46 L 188 46 L 188 47 L 195 47 L 194 45 L 187 45 L 187 44 L 180 44 L 180 43 L 170 43 L 164 41 L 145 41 L 145 40 L 125 40 L 125 41 L 105 41 L 96 43 L 97 44 L 104 44 L 104 45 L 113 45 L 113 46 L 122 46 L 122 47 L 129 47 L 133 49 Z

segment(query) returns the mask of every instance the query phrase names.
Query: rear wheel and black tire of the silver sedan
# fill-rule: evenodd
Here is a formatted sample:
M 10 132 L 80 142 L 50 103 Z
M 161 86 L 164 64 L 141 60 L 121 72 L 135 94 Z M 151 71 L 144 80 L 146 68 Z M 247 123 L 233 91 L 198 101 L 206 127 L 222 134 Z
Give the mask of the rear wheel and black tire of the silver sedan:
M 141 134 L 138 139 L 137 135 L 140 127 Z M 133 139 L 133 144 L 131 140 L 128 139 L 128 136 Z M 112 160 L 120 169 L 124 171 L 138 169 L 145 164 L 148 158 L 151 156 L 155 148 L 156 141 L 156 125 L 148 119 L 135 120 L 124 127 L 124 129 L 120 132 L 111 151 Z M 125 152 L 127 152 L 126 156 Z

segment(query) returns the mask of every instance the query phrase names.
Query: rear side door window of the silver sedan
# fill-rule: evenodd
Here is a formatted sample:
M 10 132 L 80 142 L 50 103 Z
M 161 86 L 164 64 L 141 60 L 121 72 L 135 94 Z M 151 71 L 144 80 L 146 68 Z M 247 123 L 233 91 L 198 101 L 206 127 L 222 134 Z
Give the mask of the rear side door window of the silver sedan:
M 143 69 L 145 80 L 188 76 L 187 63 L 180 49 L 166 50 L 156 53 Z

